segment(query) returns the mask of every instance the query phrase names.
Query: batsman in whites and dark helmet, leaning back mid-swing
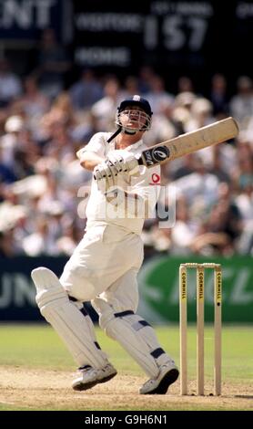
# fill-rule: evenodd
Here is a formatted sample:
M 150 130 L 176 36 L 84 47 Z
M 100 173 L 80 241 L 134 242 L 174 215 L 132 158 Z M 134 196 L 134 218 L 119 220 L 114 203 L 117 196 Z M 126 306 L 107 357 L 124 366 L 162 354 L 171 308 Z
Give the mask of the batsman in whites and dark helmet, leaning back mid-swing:
M 91 301 L 100 327 L 118 341 L 146 372 L 141 394 L 165 394 L 176 382 L 175 362 L 157 341 L 155 331 L 137 315 L 137 273 L 143 262 L 141 232 L 160 186 L 160 167 L 139 166 L 142 141 L 151 126 L 147 99 L 124 99 L 116 112 L 116 132 L 97 132 L 77 152 L 81 165 L 93 171 L 86 207 L 86 234 L 66 263 L 62 276 L 46 267 L 32 271 L 36 303 L 66 343 L 79 368 L 72 383 L 85 391 L 116 376 L 96 341 L 83 302 Z

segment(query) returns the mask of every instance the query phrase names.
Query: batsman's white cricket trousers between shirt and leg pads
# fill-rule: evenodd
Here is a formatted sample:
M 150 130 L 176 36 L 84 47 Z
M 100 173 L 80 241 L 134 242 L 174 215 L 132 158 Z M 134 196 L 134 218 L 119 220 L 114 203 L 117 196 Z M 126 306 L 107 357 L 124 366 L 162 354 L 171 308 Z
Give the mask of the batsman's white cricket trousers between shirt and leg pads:
M 66 263 L 60 281 L 79 301 L 101 296 L 115 311 L 136 312 L 137 272 L 142 262 L 139 235 L 114 225 L 94 225 Z

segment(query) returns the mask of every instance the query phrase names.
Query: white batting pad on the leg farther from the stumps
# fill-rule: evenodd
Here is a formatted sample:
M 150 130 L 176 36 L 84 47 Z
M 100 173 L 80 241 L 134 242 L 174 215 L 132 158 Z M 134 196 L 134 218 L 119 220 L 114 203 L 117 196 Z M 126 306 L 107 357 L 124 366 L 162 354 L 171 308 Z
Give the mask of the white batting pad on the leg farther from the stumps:
M 37 290 L 36 303 L 45 319 L 53 326 L 79 366 L 101 369 L 108 363 L 106 354 L 97 349 L 95 332 L 89 318 L 69 301 L 55 273 L 46 267 L 35 268 L 31 274 Z

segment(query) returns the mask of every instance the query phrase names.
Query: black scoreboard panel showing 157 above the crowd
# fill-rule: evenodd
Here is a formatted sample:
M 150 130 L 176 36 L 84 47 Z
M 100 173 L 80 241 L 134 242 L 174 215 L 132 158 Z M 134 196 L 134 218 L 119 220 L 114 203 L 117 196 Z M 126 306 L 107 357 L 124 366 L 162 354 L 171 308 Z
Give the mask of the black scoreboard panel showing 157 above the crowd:
M 74 2 L 76 64 L 205 78 L 252 74 L 253 1 Z

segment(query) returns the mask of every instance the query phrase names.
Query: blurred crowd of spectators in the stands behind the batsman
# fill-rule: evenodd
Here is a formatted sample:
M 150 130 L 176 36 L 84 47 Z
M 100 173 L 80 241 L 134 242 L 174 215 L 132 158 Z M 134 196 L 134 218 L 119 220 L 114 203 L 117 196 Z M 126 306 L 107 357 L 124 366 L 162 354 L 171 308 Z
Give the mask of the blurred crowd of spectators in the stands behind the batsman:
M 116 107 L 134 94 L 154 111 L 147 145 L 229 115 L 240 129 L 234 141 L 162 167 L 162 184 L 176 189 L 176 222 L 171 228 L 160 227 L 158 216 L 145 222 L 146 256 L 253 255 L 252 79 L 239 77 L 228 97 L 226 77 L 214 75 L 204 97 L 188 77 L 178 77 L 176 93 L 168 92 L 169 82 L 150 67 L 123 81 L 83 69 L 67 86 L 71 67 L 50 31 L 29 75 L 20 78 L 0 60 L 0 257 L 73 253 L 86 226 L 77 192 L 91 181 L 76 151 L 97 131 L 115 131 Z

